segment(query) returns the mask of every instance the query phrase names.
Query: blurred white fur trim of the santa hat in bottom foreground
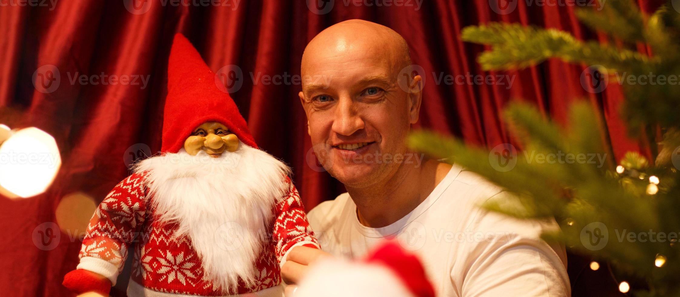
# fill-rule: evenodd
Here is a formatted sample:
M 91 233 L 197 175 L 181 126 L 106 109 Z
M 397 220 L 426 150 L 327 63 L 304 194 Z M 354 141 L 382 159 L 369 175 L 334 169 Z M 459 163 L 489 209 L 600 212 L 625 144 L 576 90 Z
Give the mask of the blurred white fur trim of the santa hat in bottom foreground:
M 310 266 L 294 297 L 415 297 L 389 268 L 378 264 L 322 258 Z

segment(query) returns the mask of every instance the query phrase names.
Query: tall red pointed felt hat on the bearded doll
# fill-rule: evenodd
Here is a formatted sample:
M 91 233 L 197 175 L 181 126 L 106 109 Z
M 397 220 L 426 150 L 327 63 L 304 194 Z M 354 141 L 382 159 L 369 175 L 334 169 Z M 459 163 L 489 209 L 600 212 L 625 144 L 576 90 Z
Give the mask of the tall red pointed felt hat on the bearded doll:
M 257 147 L 236 103 L 217 88 L 215 73 L 189 40 L 177 33 L 168 62 L 161 151 L 179 152 L 186 138 L 204 122 L 220 122 L 241 142 Z

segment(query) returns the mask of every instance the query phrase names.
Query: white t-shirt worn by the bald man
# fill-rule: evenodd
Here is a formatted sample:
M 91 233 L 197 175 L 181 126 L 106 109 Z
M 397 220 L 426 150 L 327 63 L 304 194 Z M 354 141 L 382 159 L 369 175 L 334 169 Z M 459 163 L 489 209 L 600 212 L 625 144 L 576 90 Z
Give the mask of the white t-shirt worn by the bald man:
M 420 256 L 437 296 L 571 296 L 566 253 L 540 238 L 554 220 L 524 221 L 479 207 L 511 197 L 483 177 L 454 167 L 411 213 L 383 228 L 363 226 L 348 193 L 307 215 L 324 251 L 361 257 L 396 237 Z

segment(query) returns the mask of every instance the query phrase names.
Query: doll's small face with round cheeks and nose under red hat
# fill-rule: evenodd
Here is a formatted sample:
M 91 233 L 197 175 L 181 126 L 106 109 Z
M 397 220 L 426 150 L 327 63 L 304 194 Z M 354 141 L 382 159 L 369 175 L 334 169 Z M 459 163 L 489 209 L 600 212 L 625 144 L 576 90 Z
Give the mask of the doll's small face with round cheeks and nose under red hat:
M 192 156 L 196 156 L 203 150 L 209 156 L 217 158 L 224 150 L 236 152 L 238 148 L 239 139 L 236 135 L 218 122 L 201 124 L 184 141 L 184 150 Z

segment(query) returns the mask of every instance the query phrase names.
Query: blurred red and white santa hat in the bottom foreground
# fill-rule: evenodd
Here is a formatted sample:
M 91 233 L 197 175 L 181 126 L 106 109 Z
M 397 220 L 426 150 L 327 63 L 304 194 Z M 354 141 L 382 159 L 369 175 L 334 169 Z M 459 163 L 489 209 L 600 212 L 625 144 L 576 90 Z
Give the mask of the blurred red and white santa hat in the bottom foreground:
M 434 297 L 435 289 L 420 260 L 387 241 L 363 260 L 320 259 L 293 296 Z

